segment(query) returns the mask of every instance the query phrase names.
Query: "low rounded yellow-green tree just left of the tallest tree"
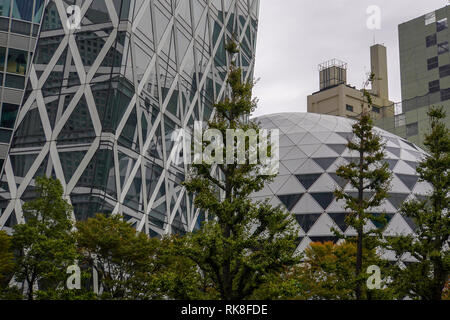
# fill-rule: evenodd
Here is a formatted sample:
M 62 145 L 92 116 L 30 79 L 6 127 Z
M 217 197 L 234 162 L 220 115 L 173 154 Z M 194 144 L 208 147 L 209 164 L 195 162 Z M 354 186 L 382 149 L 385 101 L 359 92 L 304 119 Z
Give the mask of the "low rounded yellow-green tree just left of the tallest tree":
M 98 273 L 102 299 L 162 298 L 156 261 L 160 240 L 137 232 L 118 215 L 77 223 L 83 262 Z

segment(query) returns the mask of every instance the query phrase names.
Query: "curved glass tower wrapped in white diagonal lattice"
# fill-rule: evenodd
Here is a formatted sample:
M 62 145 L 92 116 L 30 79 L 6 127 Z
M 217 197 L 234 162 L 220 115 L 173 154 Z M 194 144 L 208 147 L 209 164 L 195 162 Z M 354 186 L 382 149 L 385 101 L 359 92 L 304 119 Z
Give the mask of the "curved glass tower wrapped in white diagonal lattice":
M 58 178 L 76 219 L 120 213 L 152 236 L 202 220 L 174 133 L 224 97 L 225 44 L 253 76 L 259 0 L 49 1 L 0 190 L 0 227 L 23 221 L 34 179 Z

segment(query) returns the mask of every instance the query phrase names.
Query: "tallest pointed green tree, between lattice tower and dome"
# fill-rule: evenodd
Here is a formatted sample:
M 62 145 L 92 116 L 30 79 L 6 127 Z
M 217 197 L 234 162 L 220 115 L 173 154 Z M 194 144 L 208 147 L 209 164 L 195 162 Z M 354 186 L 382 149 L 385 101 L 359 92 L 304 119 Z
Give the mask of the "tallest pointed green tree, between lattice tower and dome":
M 237 45 L 228 44 L 227 52 L 233 61 Z M 252 99 L 253 82 L 242 81 L 242 70 L 231 62 L 227 84 L 230 94 L 215 105 L 216 113 L 208 123 L 209 129 L 220 132 L 222 137 L 227 137 L 230 132 L 227 130 L 258 134 L 258 124 L 246 121 L 256 108 L 256 100 Z M 249 139 L 245 143 L 241 141 L 236 148 L 234 138 L 227 137 L 226 144 L 229 150 L 216 143 L 215 155 L 228 151 L 229 156 L 237 148 L 244 148 L 247 161 L 244 164 L 204 161 L 193 166 L 185 186 L 195 195 L 196 206 L 209 214 L 210 221 L 198 232 L 184 237 L 181 252 L 196 264 L 218 298 L 243 300 L 251 297 L 273 274 L 298 261 L 293 256 L 297 234 L 293 218 L 284 210 L 249 199 L 273 178 L 259 174 L 263 163 L 248 161 Z M 203 150 L 208 146 L 204 143 Z M 268 149 L 271 154 L 271 147 Z

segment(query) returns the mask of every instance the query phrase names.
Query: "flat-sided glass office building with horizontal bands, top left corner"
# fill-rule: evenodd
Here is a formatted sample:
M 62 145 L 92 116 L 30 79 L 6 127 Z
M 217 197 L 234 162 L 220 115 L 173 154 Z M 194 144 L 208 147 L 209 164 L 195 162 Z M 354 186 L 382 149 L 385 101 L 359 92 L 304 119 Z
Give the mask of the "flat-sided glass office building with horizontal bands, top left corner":
M 0 0 L 0 171 L 22 102 L 45 0 Z

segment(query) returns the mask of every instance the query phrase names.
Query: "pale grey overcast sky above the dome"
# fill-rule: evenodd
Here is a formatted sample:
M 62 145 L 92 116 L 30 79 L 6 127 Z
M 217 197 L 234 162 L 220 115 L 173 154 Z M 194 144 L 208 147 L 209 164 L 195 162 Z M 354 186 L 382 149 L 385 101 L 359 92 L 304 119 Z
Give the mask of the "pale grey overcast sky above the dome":
M 388 50 L 390 98 L 401 101 L 398 25 L 439 9 L 447 0 L 261 0 L 254 94 L 256 116 L 306 112 L 319 90 L 318 64 L 348 63 L 347 82 L 358 89 L 370 72 L 370 46 Z M 381 10 L 381 29 L 367 27 L 369 6 Z M 425 41 L 425 40 L 424 40 Z

